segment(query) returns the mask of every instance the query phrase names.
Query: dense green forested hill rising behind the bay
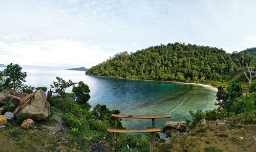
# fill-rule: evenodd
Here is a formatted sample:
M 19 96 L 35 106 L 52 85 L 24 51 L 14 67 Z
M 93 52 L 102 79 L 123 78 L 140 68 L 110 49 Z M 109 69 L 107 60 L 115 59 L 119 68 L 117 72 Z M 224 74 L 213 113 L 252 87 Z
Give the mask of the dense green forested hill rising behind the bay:
M 169 43 L 138 50 L 136 53 L 116 54 L 91 67 L 86 73 L 143 80 L 221 81 L 236 73 L 238 67 L 244 67 L 245 63 L 252 65 L 254 61 L 255 56 L 236 52 L 227 54 L 216 47 Z

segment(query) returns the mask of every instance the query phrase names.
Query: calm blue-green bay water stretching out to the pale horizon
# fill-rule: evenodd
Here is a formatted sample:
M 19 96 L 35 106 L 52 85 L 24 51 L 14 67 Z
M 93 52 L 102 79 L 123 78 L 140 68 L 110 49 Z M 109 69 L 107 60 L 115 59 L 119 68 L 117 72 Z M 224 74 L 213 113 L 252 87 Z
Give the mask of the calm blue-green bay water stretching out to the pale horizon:
M 0 67 L 0 70 L 4 68 Z M 189 110 L 213 108 L 216 93 L 207 87 L 168 82 L 124 80 L 100 78 L 85 75 L 83 71 L 63 70 L 50 67 L 26 67 L 27 85 L 50 88 L 58 76 L 73 82 L 83 81 L 89 85 L 94 107 L 105 104 L 111 110 L 118 109 L 121 114 L 161 115 L 169 114 L 170 119 L 156 119 L 156 126 L 162 127 L 165 121 L 180 121 L 189 118 Z M 71 88 L 67 89 L 68 92 Z M 129 129 L 148 128 L 151 120 L 123 119 Z

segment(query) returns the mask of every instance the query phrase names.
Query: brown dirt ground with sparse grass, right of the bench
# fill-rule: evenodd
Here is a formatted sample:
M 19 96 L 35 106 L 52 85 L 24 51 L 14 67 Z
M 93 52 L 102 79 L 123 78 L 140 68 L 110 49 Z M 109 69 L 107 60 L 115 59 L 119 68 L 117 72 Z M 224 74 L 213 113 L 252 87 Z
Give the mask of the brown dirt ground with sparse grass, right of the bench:
M 228 119 L 220 125 L 207 122 L 207 126 L 178 139 L 171 151 L 256 151 L 256 123 L 236 127 Z

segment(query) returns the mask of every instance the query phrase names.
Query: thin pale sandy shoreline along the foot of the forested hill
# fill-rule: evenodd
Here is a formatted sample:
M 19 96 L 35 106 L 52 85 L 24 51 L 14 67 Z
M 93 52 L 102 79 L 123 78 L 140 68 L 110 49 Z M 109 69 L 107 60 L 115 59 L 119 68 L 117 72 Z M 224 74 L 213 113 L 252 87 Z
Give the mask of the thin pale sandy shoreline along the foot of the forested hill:
M 91 75 L 91 76 L 96 76 L 96 77 L 102 77 L 102 78 L 113 78 L 113 77 L 104 77 L 100 75 L 92 75 L 92 74 L 86 74 L 86 75 Z M 188 83 L 188 82 L 177 82 L 177 81 L 161 81 L 161 80 L 142 80 L 142 79 L 127 79 L 127 78 L 114 78 L 114 79 L 125 79 L 125 80 L 140 80 L 140 81 L 155 81 L 155 82 L 168 82 L 168 83 L 179 83 L 179 84 L 191 84 L 191 85 L 197 85 L 197 86 L 202 86 L 202 87 L 207 87 L 215 92 L 218 92 L 218 88 L 211 86 L 211 85 L 206 85 L 206 84 L 198 84 L 198 83 Z

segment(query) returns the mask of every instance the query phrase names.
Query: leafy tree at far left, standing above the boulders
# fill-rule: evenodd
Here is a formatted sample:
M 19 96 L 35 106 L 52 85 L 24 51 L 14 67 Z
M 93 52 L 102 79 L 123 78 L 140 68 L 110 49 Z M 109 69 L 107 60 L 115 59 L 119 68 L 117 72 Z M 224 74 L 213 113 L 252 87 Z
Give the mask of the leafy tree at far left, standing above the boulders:
M 26 82 L 27 77 L 26 72 L 22 72 L 22 67 L 18 64 L 9 64 L 3 71 L 4 86 L 6 88 L 16 90 L 22 86 L 22 82 Z

